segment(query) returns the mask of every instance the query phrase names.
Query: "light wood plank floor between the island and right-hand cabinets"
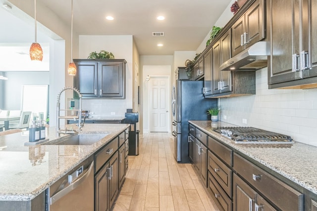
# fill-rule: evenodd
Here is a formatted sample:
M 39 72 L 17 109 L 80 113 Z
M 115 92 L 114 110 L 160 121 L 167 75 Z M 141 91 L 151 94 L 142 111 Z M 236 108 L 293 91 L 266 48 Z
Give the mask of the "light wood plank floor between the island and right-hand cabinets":
M 192 164 L 178 164 L 170 133 L 145 133 L 113 211 L 218 211 Z

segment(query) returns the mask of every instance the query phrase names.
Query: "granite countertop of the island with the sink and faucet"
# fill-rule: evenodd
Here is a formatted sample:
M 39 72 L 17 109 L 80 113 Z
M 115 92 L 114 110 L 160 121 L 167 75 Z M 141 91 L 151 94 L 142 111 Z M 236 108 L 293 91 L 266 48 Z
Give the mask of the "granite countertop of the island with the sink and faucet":
M 105 133 L 92 145 L 25 146 L 28 131 L 0 136 L 0 201 L 29 201 L 93 155 L 129 124 L 87 124 L 80 133 Z M 67 128 L 77 127 L 68 125 Z M 76 128 L 75 128 L 76 127 Z M 66 136 L 66 135 L 61 135 Z M 47 138 L 56 139 L 55 127 L 47 128 Z

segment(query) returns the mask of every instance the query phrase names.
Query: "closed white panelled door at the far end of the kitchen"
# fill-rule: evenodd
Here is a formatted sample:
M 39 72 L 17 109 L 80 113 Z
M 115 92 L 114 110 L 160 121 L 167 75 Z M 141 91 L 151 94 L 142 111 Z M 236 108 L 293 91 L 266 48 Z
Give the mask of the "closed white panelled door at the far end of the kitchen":
M 150 132 L 168 132 L 169 123 L 169 78 L 150 79 Z

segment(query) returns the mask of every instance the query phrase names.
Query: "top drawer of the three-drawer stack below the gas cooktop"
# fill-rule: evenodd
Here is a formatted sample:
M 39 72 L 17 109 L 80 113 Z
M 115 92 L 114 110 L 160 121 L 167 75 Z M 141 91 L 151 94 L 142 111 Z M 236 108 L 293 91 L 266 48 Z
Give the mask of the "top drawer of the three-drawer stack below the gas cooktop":
M 218 156 L 225 164 L 232 167 L 233 152 L 231 149 L 224 146 L 211 136 L 208 136 L 208 148 L 211 150 L 211 152 L 213 152 L 213 154 Z

